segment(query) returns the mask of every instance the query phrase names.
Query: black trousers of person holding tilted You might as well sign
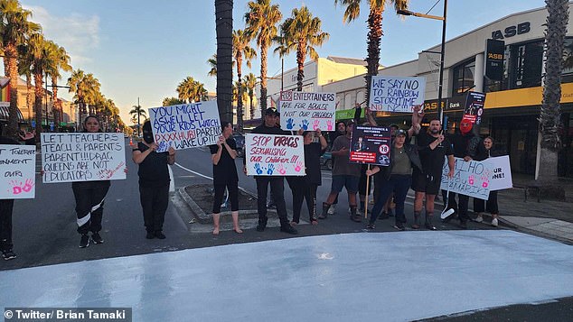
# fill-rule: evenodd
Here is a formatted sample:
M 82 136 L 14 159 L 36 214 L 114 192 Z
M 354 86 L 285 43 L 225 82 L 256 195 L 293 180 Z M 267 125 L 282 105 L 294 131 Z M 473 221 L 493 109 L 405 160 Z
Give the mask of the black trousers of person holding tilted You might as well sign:
M 139 185 L 139 201 L 144 213 L 146 231 L 162 231 L 165 212 L 167 211 L 167 206 L 169 206 L 169 185 L 161 187 Z

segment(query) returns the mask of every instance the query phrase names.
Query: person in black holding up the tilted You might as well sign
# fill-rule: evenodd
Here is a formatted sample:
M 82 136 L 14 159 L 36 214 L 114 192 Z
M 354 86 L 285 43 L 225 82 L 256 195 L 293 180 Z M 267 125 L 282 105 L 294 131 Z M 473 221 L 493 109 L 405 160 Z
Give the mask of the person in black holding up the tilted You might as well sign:
M 143 209 L 147 239 L 165 239 L 163 225 L 165 212 L 169 206 L 169 169 L 167 164 L 175 163 L 175 150 L 156 152 L 159 148 L 154 141 L 151 123 L 143 125 L 143 141 L 137 143 L 132 158 L 139 165 L 139 200 Z

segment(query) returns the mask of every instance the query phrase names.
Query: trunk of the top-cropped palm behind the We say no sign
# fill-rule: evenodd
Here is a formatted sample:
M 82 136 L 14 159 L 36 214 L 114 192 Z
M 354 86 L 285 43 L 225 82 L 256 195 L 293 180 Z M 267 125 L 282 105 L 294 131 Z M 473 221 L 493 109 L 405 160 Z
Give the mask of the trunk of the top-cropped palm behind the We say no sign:
M 372 76 L 378 75 L 380 67 L 380 39 L 382 38 L 382 11 L 371 10 L 368 16 L 368 57 L 366 58 L 366 102 L 370 102 L 370 87 Z

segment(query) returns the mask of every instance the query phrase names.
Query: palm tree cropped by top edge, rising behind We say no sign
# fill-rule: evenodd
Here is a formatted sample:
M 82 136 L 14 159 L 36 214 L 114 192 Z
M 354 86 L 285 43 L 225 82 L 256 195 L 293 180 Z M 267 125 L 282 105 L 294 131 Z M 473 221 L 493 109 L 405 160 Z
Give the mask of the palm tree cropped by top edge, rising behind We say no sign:
M 368 15 L 368 56 L 366 57 L 366 102 L 370 101 L 370 84 L 372 76 L 378 75 L 380 67 L 380 39 L 382 38 L 382 13 L 386 3 L 394 5 L 394 9 L 408 9 L 409 0 L 369 0 L 370 13 Z M 334 5 L 346 7 L 343 21 L 350 23 L 360 15 L 361 0 L 334 0 Z

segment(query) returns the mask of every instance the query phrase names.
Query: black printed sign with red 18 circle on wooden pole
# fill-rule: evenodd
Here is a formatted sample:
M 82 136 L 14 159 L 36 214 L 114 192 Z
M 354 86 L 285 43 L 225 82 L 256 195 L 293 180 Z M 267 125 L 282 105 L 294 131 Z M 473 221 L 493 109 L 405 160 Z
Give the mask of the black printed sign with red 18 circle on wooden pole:
M 350 142 L 352 163 L 390 165 L 390 127 L 355 125 Z

